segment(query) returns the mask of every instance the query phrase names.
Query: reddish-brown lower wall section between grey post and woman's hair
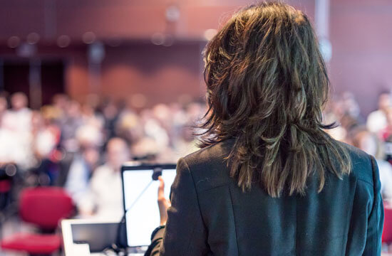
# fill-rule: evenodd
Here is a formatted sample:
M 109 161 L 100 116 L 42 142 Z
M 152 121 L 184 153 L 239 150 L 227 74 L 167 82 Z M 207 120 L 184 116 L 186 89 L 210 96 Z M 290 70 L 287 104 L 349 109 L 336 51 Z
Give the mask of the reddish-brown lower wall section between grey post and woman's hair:
M 181 95 L 199 97 L 204 94 L 201 44 L 108 48 L 101 92 L 114 97 L 141 93 L 148 95 L 150 103 L 175 102 Z

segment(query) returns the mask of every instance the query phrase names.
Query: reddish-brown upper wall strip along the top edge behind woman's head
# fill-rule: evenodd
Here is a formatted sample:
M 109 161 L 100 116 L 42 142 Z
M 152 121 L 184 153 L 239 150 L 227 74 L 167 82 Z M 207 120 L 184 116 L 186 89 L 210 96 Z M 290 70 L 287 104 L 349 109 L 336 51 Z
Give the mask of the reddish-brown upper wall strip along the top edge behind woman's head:
M 314 14 L 314 0 L 289 3 Z M 26 38 L 31 32 L 43 40 L 61 35 L 81 41 L 93 31 L 98 38 L 150 38 L 170 31 L 179 38 L 202 38 L 208 28 L 217 28 L 247 0 L 0 0 L 0 41 L 10 36 Z M 177 22 L 167 21 L 168 6 L 180 11 Z

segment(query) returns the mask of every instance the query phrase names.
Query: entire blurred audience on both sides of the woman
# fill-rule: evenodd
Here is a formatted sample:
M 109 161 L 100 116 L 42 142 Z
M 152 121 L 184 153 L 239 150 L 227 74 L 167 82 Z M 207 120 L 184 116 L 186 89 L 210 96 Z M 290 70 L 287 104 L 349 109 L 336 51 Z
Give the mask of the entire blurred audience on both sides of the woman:
M 51 105 L 31 110 L 24 93 L 2 93 L 0 165 L 16 166 L 11 175 L 24 186 L 63 186 L 82 216 L 120 218 L 120 165 L 128 160 L 175 163 L 197 150 L 194 134 L 202 131 L 195 126 L 206 111 L 203 102 L 189 100 L 146 108 L 145 100 L 143 105 L 138 100 L 142 96 L 122 103 L 88 95 L 81 103 L 56 95 Z M 392 200 L 390 92 L 380 94 L 378 110 L 367 119 L 351 92 L 334 95 L 324 122 L 336 122 L 326 130 L 331 137 L 376 157 L 384 199 Z

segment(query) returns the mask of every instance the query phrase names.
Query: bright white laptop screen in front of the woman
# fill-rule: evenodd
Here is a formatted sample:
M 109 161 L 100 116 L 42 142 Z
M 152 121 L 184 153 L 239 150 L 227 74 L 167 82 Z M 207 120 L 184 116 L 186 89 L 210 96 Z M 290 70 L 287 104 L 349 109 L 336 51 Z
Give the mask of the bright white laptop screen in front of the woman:
M 151 233 L 160 225 L 158 209 L 159 181 L 153 181 L 154 169 L 162 169 L 165 197 L 175 179 L 175 164 L 123 166 L 125 225 L 129 247 L 151 243 Z

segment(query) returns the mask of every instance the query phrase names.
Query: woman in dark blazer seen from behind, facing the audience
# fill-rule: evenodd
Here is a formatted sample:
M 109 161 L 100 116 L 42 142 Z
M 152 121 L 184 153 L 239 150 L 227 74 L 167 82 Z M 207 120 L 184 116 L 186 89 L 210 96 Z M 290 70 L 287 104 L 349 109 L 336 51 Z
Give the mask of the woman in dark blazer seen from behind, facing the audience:
M 161 180 L 146 255 L 381 255 L 376 161 L 324 132 L 329 79 L 309 18 L 248 6 L 204 54 L 202 149 L 178 161 L 171 206 Z

